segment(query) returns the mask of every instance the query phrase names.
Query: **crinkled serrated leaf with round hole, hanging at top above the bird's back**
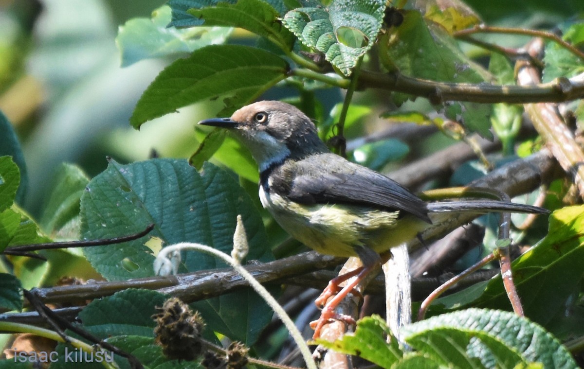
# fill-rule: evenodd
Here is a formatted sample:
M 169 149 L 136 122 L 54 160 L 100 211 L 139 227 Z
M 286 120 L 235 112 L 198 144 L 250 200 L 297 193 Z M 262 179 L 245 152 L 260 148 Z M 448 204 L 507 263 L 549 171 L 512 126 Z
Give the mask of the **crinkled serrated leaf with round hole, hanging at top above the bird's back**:
M 283 23 L 305 46 L 324 53 L 348 76 L 375 43 L 384 10 L 381 0 L 335 0 L 327 8 L 294 9 L 286 13 Z

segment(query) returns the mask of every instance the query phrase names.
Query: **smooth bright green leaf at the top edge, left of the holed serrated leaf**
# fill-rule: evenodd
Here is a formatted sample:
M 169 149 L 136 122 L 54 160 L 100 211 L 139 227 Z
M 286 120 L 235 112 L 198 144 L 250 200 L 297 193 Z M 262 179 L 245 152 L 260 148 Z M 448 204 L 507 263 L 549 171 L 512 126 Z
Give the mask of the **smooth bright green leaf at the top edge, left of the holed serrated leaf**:
M 246 29 L 264 36 L 290 50 L 294 40 L 278 21 L 279 13 L 262 0 L 239 0 L 236 4 L 220 2 L 216 6 L 190 9 L 189 14 L 204 20 L 206 26 L 228 26 Z

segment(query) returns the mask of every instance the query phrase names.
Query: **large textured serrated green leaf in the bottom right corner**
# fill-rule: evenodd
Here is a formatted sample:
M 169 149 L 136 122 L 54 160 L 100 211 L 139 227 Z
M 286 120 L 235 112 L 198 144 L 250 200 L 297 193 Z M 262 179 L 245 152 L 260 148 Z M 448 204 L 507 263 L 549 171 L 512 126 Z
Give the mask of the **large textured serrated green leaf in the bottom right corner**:
M 509 368 L 523 361 L 545 368 L 576 368 L 571 354 L 541 326 L 512 312 L 468 309 L 443 314 L 404 327 L 405 340 L 436 358 L 458 356 L 460 367 Z M 477 342 L 477 340 L 479 342 Z M 470 361 L 468 361 L 470 359 Z M 515 363 L 515 364 L 513 364 Z

